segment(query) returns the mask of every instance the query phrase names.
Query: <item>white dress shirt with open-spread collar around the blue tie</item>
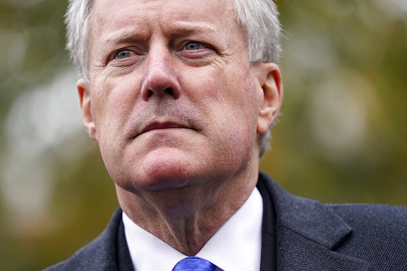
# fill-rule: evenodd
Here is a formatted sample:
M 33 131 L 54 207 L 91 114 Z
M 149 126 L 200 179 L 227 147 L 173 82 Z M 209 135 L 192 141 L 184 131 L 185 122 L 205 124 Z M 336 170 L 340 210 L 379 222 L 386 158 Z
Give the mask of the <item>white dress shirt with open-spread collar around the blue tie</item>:
M 262 221 L 263 199 L 255 188 L 195 256 L 218 266 L 217 271 L 258 271 Z M 137 226 L 124 212 L 123 224 L 135 271 L 172 271 L 177 262 L 187 257 Z

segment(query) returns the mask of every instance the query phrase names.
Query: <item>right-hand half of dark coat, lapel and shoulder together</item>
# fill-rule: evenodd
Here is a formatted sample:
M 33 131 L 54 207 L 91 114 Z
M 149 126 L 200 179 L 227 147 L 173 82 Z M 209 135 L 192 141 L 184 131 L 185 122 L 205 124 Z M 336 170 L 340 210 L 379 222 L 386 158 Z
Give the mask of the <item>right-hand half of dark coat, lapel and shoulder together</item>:
M 407 270 L 406 207 L 324 204 L 286 192 L 261 172 L 258 188 L 274 205 L 277 257 L 287 266 L 301 263 L 307 266 L 303 270 L 310 270 L 324 263 L 330 266 L 328 260 L 338 257 L 344 260 L 340 270 L 355 266 L 351 259 L 369 270 Z

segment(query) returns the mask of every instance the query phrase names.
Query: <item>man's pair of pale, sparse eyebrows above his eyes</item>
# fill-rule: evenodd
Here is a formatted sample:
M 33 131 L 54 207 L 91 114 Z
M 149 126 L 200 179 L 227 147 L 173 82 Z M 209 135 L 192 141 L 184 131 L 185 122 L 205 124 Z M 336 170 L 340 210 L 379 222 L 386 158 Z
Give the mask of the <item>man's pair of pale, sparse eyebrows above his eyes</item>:
M 171 36 L 182 36 L 190 34 L 201 34 L 201 33 L 216 33 L 215 28 L 210 25 L 200 24 L 200 25 L 190 25 L 190 24 L 176 24 L 171 27 L 171 32 L 174 33 Z M 106 37 L 104 43 L 124 43 L 140 39 L 146 39 L 146 34 L 134 33 L 134 32 L 124 32 L 117 35 L 111 35 Z

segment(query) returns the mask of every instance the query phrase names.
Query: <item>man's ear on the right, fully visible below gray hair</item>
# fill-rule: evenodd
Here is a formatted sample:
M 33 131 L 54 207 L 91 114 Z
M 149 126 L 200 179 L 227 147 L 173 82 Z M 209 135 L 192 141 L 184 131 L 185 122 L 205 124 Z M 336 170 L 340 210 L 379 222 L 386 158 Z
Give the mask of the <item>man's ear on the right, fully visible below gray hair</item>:
M 260 88 L 257 133 L 263 135 L 269 130 L 280 111 L 283 85 L 277 64 L 258 62 L 254 65 Z

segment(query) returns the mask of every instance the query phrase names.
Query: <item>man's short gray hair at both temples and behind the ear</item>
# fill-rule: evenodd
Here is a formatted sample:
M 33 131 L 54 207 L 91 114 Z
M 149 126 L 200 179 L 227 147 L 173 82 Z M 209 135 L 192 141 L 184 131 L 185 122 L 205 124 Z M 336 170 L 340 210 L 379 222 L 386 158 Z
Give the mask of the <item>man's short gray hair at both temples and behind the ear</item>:
M 258 61 L 278 64 L 281 53 L 281 25 L 278 11 L 272 0 L 232 0 L 239 23 L 247 36 L 250 63 Z M 69 0 L 65 23 L 67 45 L 79 77 L 89 78 L 89 59 L 86 57 L 88 36 L 94 0 Z M 258 137 L 259 157 L 263 157 L 270 146 L 270 125 L 264 135 Z

